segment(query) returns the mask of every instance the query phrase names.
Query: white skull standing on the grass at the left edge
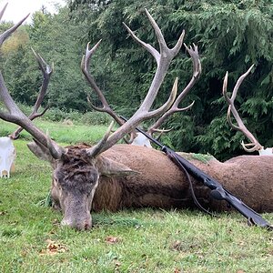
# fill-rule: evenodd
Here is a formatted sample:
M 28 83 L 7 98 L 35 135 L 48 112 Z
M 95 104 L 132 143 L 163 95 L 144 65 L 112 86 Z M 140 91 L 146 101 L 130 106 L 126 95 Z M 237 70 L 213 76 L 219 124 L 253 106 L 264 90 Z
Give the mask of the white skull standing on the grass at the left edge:
M 15 161 L 15 147 L 12 140 L 0 137 L 0 177 L 10 177 L 10 171 Z

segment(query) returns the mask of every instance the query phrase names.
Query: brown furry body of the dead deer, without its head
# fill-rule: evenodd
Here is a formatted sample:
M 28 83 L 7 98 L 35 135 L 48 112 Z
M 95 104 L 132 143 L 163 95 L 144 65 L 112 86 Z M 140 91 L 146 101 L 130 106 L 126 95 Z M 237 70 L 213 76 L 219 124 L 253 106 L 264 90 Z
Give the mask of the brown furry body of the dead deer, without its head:
M 162 152 L 147 147 L 116 145 L 104 154 L 139 172 L 129 177 L 100 177 L 93 209 L 123 207 L 194 207 L 186 176 Z M 241 156 L 221 163 L 191 162 L 215 177 L 236 197 L 259 212 L 273 211 L 273 157 Z M 209 190 L 193 179 L 197 198 L 213 210 L 227 209 L 212 200 Z

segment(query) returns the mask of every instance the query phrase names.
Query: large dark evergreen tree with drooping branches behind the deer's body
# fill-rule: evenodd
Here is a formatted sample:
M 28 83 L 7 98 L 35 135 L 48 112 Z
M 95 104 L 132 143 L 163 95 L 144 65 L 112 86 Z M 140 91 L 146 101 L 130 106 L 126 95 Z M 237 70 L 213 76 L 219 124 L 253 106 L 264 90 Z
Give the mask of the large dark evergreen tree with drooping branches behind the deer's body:
M 265 147 L 272 147 L 271 1 L 73 1 L 70 4 L 71 10 L 76 10 L 78 15 L 85 14 L 89 21 L 90 40 L 99 37 L 104 40 L 101 50 L 105 56 L 111 57 L 112 66 L 116 67 L 109 80 L 126 83 L 126 88 L 116 87 L 113 97 L 117 105 L 121 103 L 117 91 L 122 94 L 123 109 L 126 105 L 132 109 L 132 101 L 137 106 L 137 102 L 147 92 L 155 70 L 154 60 L 127 38 L 121 25 L 125 21 L 142 40 L 155 45 L 155 35 L 143 15 L 145 7 L 156 19 L 169 45 L 175 44 L 184 28 L 186 44 L 197 44 L 201 55 L 202 76 L 184 102 L 187 104 L 187 101 L 195 99 L 195 106 L 190 112 L 175 115 L 167 122 L 168 126 L 176 129 L 169 136 L 172 144 L 178 150 L 209 152 L 219 158 L 242 153 L 239 139 L 243 139 L 243 136 L 227 126 L 227 106 L 221 89 L 226 71 L 229 71 L 228 87 L 231 89 L 238 76 L 245 73 L 251 64 L 255 64 L 252 74 L 239 90 L 238 109 L 249 130 L 258 136 Z M 187 84 L 190 74 L 191 63 L 182 52 L 170 67 L 158 100 L 166 98 L 175 76 L 179 77 L 181 89 Z

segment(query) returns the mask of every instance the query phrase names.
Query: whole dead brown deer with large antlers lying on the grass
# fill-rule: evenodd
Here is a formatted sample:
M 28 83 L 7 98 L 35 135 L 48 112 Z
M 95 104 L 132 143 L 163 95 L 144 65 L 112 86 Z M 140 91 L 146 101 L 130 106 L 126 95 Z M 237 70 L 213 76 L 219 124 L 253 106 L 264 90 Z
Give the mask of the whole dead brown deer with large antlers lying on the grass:
M 151 86 L 136 113 L 126 123 L 108 106 L 101 90 L 96 86 L 93 76 L 88 72 L 90 57 L 94 47 L 86 47 L 82 69 L 103 107 L 121 126 L 111 134 L 109 126 L 106 135 L 94 146 L 77 145 L 60 147 L 48 135 L 36 127 L 32 121 L 16 106 L 8 93 L 5 81 L 0 73 L 0 98 L 6 109 L 0 109 L 0 117 L 5 121 L 22 126 L 29 132 L 34 142 L 28 144 L 36 157 L 45 159 L 53 167 L 51 196 L 54 207 L 64 214 L 62 225 L 77 229 L 89 229 L 92 226 L 91 209 L 118 210 L 124 207 L 192 207 L 193 201 L 187 177 L 167 156 L 156 149 L 134 147 L 116 143 L 135 129 L 144 120 L 162 116 L 173 105 L 177 94 L 177 80 L 167 102 L 157 109 L 151 109 L 168 66 L 177 56 L 182 44 L 184 31 L 177 44 L 168 48 L 160 28 L 147 12 L 148 21 L 154 28 L 159 51 L 141 41 L 128 26 L 126 30 L 132 38 L 142 45 L 157 62 L 157 71 Z M 24 20 L 0 35 L 0 45 Z M 114 113 L 114 114 L 113 114 Z M 227 163 L 212 159 L 207 163 L 193 160 L 211 177 L 217 178 L 228 190 L 242 198 L 248 206 L 258 211 L 273 211 L 272 185 L 273 169 L 271 157 L 264 157 L 262 163 L 258 157 L 237 157 Z M 259 163 L 259 167 L 258 166 Z M 194 181 L 197 198 L 211 209 L 223 210 L 226 205 L 212 201 L 205 187 Z

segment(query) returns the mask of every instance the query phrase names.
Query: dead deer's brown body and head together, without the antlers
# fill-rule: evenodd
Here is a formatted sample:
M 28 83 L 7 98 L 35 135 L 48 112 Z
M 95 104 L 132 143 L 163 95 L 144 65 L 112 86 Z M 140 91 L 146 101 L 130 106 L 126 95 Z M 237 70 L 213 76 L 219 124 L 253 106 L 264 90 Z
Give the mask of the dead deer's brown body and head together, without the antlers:
M 116 211 L 125 207 L 195 207 L 186 174 L 162 152 L 147 147 L 116 145 L 90 157 L 86 145 L 66 147 L 60 159 L 45 147 L 29 145 L 37 157 L 51 162 L 54 207 L 64 213 L 63 225 L 92 227 L 90 210 Z M 242 156 L 221 163 L 191 162 L 216 178 L 236 197 L 258 212 L 273 211 L 273 157 Z M 193 180 L 203 207 L 227 210 L 227 203 L 213 200 L 210 190 Z

